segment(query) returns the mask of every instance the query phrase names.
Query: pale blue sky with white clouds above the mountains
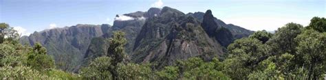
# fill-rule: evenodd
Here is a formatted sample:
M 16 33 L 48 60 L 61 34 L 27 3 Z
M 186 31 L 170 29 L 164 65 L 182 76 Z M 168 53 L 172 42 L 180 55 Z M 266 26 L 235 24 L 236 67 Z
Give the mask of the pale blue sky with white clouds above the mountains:
M 273 31 L 326 16 L 326 0 L 0 0 L 0 23 L 23 35 L 76 24 L 113 25 L 116 14 L 169 6 L 184 13 L 212 10 L 225 23 Z

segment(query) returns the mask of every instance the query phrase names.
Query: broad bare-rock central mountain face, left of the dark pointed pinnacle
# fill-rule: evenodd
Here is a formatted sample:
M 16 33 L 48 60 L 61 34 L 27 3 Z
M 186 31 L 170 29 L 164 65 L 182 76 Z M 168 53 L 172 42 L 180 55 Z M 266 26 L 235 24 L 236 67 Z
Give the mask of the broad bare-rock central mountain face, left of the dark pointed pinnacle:
M 149 18 L 135 40 L 131 59 L 172 65 L 177 59 L 223 54 L 218 42 L 211 40 L 193 16 L 164 7 L 160 16 Z

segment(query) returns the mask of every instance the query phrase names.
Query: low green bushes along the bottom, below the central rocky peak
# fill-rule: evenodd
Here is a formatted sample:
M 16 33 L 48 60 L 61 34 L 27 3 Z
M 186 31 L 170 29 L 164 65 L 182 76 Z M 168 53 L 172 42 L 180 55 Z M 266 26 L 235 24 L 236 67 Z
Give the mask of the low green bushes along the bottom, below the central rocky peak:
M 221 62 L 214 58 L 204 62 L 199 57 L 178 61 L 176 66 L 166 66 L 157 72 L 160 79 L 229 79 L 221 72 Z

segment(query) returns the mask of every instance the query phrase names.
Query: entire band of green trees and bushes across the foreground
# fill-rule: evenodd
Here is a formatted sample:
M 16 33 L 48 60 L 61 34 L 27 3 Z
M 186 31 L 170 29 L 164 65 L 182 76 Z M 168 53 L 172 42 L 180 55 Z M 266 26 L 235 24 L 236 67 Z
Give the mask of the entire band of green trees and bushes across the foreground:
M 1 79 L 322 79 L 326 72 L 326 18 L 307 27 L 287 23 L 275 34 L 257 31 L 228 45 L 224 58 L 178 60 L 173 66 L 135 64 L 129 60 L 124 33 L 108 40 L 107 54 L 77 75 L 56 69 L 41 44 L 19 44 L 19 34 L 0 24 Z

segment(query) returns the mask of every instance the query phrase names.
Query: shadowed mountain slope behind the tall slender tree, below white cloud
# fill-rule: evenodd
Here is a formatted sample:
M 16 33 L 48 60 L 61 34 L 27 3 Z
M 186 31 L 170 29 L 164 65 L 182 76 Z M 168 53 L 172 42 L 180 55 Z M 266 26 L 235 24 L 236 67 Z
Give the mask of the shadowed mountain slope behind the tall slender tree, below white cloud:
M 81 63 L 82 66 L 86 66 L 91 59 L 105 55 L 107 53 L 107 48 L 109 43 L 107 39 L 111 38 L 113 31 L 123 31 L 126 34 L 127 44 L 125 45 L 126 53 L 131 55 L 133 52 L 133 45 L 135 43 L 135 38 L 138 36 L 140 29 L 144 25 L 146 18 L 152 18 L 154 16 L 160 15 L 161 10 L 159 8 L 150 8 L 147 12 L 133 12 L 129 14 L 123 14 L 123 16 L 129 16 L 133 18 L 128 21 L 114 21 L 111 27 L 112 31 L 105 33 L 103 36 L 93 38 L 88 46 L 87 52 L 83 57 Z

